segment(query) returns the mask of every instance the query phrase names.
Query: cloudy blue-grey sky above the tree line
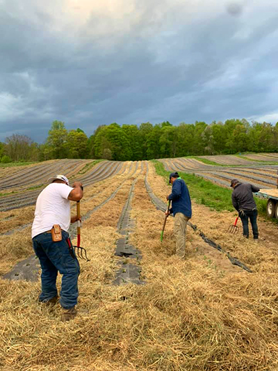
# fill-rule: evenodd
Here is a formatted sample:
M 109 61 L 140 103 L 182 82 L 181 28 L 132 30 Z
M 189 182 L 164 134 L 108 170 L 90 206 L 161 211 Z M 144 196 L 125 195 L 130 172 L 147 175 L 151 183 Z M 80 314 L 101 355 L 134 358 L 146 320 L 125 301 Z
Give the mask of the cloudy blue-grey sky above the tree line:
M 277 0 L 0 0 L 0 141 L 278 121 Z

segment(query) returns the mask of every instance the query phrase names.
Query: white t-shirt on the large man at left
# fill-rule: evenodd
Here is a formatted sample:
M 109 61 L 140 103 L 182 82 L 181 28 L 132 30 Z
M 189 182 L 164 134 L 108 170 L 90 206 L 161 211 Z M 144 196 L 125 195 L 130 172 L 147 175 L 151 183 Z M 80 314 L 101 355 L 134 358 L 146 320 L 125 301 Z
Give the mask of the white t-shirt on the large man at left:
M 70 228 L 70 200 L 72 187 L 64 183 L 51 183 L 39 194 L 35 204 L 32 238 L 51 230 L 54 224 L 67 231 Z

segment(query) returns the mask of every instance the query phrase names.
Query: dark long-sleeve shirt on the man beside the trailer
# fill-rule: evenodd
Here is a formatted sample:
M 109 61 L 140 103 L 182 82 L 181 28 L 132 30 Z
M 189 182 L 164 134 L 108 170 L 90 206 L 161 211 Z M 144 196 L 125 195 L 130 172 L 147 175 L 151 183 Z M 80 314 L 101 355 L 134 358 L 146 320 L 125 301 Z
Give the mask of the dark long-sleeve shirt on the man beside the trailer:
M 236 210 L 252 210 L 256 208 L 253 192 L 259 192 L 259 188 L 252 184 L 238 183 L 231 194 L 231 202 Z

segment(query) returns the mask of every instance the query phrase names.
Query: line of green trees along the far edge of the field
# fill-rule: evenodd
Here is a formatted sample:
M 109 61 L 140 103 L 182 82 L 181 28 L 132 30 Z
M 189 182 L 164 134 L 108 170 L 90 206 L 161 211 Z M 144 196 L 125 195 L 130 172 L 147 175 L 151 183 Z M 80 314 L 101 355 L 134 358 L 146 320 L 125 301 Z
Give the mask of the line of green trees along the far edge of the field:
M 278 123 L 249 123 L 244 118 L 206 124 L 168 121 L 152 125 L 100 125 L 88 137 L 82 129 L 67 130 L 54 121 L 44 143 L 13 134 L 0 142 L 0 161 L 47 159 L 113 159 L 136 161 L 194 155 L 228 155 L 238 152 L 277 152 Z

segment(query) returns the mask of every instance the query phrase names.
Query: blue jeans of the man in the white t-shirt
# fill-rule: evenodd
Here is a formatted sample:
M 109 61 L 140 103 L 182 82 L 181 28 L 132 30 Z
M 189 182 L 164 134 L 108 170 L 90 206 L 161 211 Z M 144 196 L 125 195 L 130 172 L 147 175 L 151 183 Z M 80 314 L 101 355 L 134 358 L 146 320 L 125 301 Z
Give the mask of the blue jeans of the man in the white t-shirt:
M 78 278 L 80 274 L 79 261 L 73 251 L 70 255 L 67 238 L 70 235 L 62 231 L 62 241 L 53 242 L 51 233 L 40 233 L 33 237 L 35 255 L 42 267 L 42 293 L 39 301 L 46 302 L 57 296 L 56 278 L 58 271 L 63 274 L 60 290 L 60 305 L 63 308 L 72 308 L 77 303 Z

